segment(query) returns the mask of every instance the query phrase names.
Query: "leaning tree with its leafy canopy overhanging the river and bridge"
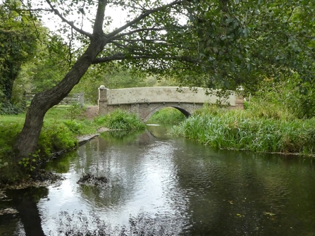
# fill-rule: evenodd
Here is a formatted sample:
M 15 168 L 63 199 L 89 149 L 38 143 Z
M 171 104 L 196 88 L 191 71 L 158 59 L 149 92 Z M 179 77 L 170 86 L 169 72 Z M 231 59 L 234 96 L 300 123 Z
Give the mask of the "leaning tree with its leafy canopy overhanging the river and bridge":
M 18 156 L 36 150 L 45 113 L 99 63 L 123 61 L 138 71 L 177 75 L 188 85 L 227 89 L 255 89 L 261 80 L 290 73 L 314 80 L 313 5 L 311 0 L 46 0 L 32 8 L 27 1 L 22 10 L 53 12 L 70 27 L 71 44 L 78 39 L 86 48 L 58 85 L 32 100 L 16 142 Z M 128 20 L 105 33 L 109 7 L 122 8 Z M 80 17 L 69 18 L 73 12 Z M 304 17 L 309 22 L 296 20 Z M 92 32 L 83 30 L 84 19 L 93 22 Z

